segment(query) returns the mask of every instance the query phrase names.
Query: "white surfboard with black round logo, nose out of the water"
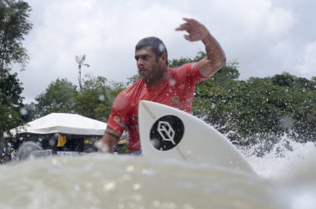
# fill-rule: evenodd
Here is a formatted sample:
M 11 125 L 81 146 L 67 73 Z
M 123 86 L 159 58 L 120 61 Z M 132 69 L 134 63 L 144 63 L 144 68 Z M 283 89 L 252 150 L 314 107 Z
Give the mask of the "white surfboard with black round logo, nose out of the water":
M 139 129 L 144 157 L 209 163 L 255 173 L 239 150 L 199 118 L 149 101 L 139 103 Z

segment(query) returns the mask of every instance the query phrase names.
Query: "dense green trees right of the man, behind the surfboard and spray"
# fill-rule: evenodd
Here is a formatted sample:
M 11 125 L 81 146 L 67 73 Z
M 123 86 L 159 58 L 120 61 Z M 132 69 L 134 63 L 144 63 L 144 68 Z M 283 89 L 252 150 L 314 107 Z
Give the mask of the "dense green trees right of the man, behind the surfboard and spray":
M 237 63 L 228 63 L 196 87 L 194 114 L 232 141 L 246 146 L 289 134 L 316 141 L 316 82 L 289 73 L 237 80 Z

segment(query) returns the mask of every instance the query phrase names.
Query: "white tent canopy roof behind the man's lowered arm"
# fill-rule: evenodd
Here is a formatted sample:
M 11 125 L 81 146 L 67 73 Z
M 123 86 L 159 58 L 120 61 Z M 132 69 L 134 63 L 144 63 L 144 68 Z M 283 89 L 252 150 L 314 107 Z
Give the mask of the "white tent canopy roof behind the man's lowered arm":
M 107 127 L 105 122 L 70 113 L 51 113 L 10 130 L 14 136 L 18 133 L 64 133 L 74 135 L 100 135 Z M 4 137 L 7 137 L 4 134 Z

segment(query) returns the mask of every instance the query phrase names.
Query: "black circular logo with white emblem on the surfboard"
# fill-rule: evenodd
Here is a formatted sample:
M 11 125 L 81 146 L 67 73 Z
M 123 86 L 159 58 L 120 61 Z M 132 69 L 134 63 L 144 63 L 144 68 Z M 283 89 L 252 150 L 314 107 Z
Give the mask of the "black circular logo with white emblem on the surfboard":
M 166 151 L 181 141 L 183 133 L 184 125 L 180 118 L 174 115 L 165 115 L 154 123 L 150 140 L 156 149 Z

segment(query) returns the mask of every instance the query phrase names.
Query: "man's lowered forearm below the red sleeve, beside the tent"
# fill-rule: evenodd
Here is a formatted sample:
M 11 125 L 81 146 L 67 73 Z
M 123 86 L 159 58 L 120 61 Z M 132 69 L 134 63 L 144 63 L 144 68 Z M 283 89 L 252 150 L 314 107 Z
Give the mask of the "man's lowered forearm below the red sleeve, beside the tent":
M 107 126 L 98 151 L 113 153 L 114 146 L 119 142 L 120 137 L 121 134 L 113 130 L 110 126 Z

